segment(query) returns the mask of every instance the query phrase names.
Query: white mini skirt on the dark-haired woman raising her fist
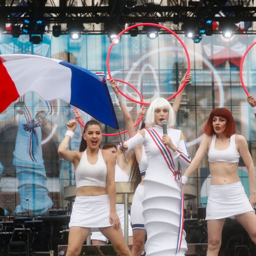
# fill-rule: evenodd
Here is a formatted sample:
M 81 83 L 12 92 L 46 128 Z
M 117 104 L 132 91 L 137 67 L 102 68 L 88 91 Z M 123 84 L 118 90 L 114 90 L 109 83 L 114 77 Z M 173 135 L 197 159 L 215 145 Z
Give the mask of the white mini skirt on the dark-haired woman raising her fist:
M 69 227 L 79 226 L 98 231 L 100 227 L 113 226 L 109 222 L 109 195 L 76 196 Z

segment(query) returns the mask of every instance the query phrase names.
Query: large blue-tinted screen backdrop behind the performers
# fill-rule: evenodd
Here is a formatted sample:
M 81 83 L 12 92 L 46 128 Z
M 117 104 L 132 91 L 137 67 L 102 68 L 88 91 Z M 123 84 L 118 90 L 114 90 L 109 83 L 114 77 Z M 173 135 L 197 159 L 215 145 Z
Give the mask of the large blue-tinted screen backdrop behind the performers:
M 216 107 L 225 106 L 233 113 L 237 132 L 248 140 L 256 162 L 256 122 L 239 77 L 241 57 L 255 41 L 255 36 L 237 34 L 227 40 L 221 34 L 215 34 L 203 36 L 202 41 L 195 44 L 181 35 L 181 40 L 188 49 L 192 82 L 183 92 L 177 128 L 184 132 L 192 158 L 209 113 Z M 0 39 L 0 54 L 52 57 L 91 72 L 104 72 L 108 76 L 106 59 L 109 45 L 106 35 L 82 35 L 77 41 L 72 41 L 68 35 L 59 38 L 45 35 L 41 44 L 32 45 L 27 36 L 12 38 L 4 34 Z M 254 55 L 255 47 L 245 58 L 243 78 L 250 93 L 256 97 Z M 159 34 L 154 40 L 146 35 L 123 35 L 121 43 L 111 50 L 109 68 L 113 78 L 132 84 L 145 102 L 151 102 L 156 97 L 169 98 L 177 91 L 182 76 L 187 72 L 188 61 L 181 43 L 172 34 Z M 30 73 L 26 67 L 23 72 Z M 129 97 L 140 100 L 129 85 L 119 83 L 119 87 Z M 124 118 L 117 99 L 110 87 L 109 91 L 120 128 L 124 130 Z M 141 105 L 124 99 L 135 119 Z M 73 106 L 59 99 L 46 102 L 30 92 L 0 113 L 0 205 L 6 214 L 44 215 L 49 209 L 69 207 L 63 198 L 63 188 L 74 184 L 74 170 L 70 163 L 60 159 L 57 148 L 64 137 L 67 121 L 73 118 L 73 110 Z M 83 113 L 83 118 L 85 121 L 90 119 L 86 113 Z M 102 127 L 105 133 L 117 132 L 113 128 Z M 72 149 L 79 148 L 80 139 L 81 132 L 77 129 L 70 144 Z M 118 143 L 119 137 L 105 136 L 102 142 L 107 141 Z M 248 175 L 243 162 L 239 163 L 239 175 L 248 192 Z M 209 188 L 207 158 L 189 183 L 198 187 L 198 196 L 193 203 L 204 205 Z

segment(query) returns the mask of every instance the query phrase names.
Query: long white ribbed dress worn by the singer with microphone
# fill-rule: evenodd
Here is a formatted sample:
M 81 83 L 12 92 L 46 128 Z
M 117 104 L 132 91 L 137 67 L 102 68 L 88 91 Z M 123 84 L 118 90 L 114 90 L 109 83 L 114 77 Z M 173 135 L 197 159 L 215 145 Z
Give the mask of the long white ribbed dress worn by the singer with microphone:
M 156 132 L 151 136 L 150 132 Z M 190 157 L 184 141 L 180 141 L 181 131 L 168 128 L 168 136 L 178 150 L 173 154 L 162 154 L 166 151 L 162 143 L 162 127 L 155 125 L 152 129 L 145 131 L 145 137 L 136 134 L 125 141 L 129 149 L 138 143 L 143 143 L 147 154 L 148 168 L 144 178 L 144 200 L 143 216 L 147 230 L 147 241 L 145 245 L 147 256 L 184 256 L 187 251 L 185 232 L 182 222 L 182 193 L 178 181 L 180 175 L 175 176 L 173 166 L 174 158 L 177 158 L 182 165 L 188 166 Z M 157 144 L 154 140 L 160 141 Z M 161 145 L 162 143 L 162 145 Z M 165 160 L 169 162 L 168 164 Z

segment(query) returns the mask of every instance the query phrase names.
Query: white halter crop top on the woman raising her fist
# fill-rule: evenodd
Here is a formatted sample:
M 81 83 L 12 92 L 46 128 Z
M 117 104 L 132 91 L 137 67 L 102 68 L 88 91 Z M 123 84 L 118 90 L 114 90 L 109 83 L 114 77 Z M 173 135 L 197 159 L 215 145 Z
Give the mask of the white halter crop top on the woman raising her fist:
M 106 188 L 107 165 L 102 157 L 102 151 L 98 152 L 98 161 L 92 165 L 87 160 L 87 151 L 83 152 L 82 158 L 75 170 L 76 188 L 83 186 L 95 186 Z

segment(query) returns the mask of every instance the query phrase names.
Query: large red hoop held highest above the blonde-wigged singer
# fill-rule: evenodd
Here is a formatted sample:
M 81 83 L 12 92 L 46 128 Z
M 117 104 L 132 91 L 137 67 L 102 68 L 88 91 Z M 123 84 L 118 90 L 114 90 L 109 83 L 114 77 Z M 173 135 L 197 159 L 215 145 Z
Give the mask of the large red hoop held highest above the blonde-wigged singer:
M 157 26 L 157 27 L 160 27 L 164 30 L 167 30 L 169 33 L 173 34 L 181 43 L 181 45 L 183 46 L 184 48 L 184 51 L 186 53 L 186 56 L 187 56 L 187 60 L 188 60 L 188 71 L 187 71 L 187 74 L 190 72 L 190 59 L 189 59 L 189 55 L 188 55 L 188 50 L 186 48 L 186 46 L 184 45 L 183 41 L 181 40 L 181 38 L 178 37 L 177 34 L 175 34 L 172 30 L 168 29 L 167 27 L 165 26 L 162 26 L 162 25 L 159 25 L 159 24 L 154 24 L 154 23 L 140 23 L 140 24 L 135 24 L 135 25 L 132 25 L 132 26 L 129 26 L 128 28 L 122 30 L 115 38 L 114 40 L 112 41 L 111 45 L 109 46 L 109 51 L 108 51 L 108 54 L 107 54 L 107 70 L 108 70 L 108 73 L 109 73 L 109 78 L 112 79 L 112 75 L 111 75 L 111 72 L 110 72 L 110 68 L 109 68 L 109 56 L 110 56 L 110 53 L 111 53 L 111 49 L 114 45 L 114 41 L 117 40 L 117 38 L 119 38 L 122 34 L 124 34 L 126 31 L 132 29 L 132 28 L 135 28 L 135 27 L 138 27 L 138 26 Z M 166 100 L 170 100 L 172 98 L 174 98 L 177 94 L 179 94 L 181 92 L 181 90 L 183 90 L 183 88 L 185 87 L 186 85 L 186 82 L 184 81 L 182 87 L 177 90 L 177 92 L 175 94 L 173 94 L 171 97 L 167 98 Z M 143 101 L 136 101 L 134 99 L 132 99 L 131 97 L 129 97 L 128 95 L 124 94 L 120 89 L 118 89 L 118 91 L 120 92 L 120 94 L 122 94 L 125 98 L 128 98 L 130 101 L 133 101 L 133 102 L 136 102 L 136 103 L 139 103 L 139 104 L 142 104 L 142 105 L 150 105 L 149 102 L 143 102 Z

